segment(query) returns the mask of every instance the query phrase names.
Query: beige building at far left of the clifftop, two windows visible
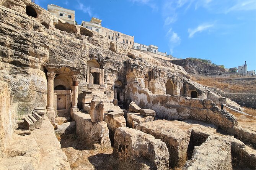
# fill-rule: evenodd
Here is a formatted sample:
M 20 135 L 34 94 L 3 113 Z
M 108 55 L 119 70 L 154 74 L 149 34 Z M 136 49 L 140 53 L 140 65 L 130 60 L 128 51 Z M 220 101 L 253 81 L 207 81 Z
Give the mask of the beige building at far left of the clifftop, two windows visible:
M 60 19 L 63 19 L 64 21 L 70 23 L 70 24 L 75 24 L 75 11 L 73 10 L 68 10 L 66 8 L 62 8 L 57 5 L 49 5 L 47 6 L 47 10 L 57 16 Z

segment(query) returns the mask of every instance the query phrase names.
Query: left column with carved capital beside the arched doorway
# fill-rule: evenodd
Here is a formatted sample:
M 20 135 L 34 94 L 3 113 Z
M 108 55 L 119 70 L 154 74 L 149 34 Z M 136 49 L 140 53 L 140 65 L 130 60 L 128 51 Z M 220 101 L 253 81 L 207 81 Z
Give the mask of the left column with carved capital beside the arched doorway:
M 55 123 L 55 111 L 54 111 L 54 78 L 55 73 L 48 72 L 47 78 L 47 117 L 52 124 Z

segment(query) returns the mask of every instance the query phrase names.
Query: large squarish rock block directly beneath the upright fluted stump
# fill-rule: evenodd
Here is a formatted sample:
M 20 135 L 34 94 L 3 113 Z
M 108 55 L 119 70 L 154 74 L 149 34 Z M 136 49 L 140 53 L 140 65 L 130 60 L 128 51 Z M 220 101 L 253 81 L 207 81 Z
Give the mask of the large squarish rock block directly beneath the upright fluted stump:
M 91 122 L 90 114 L 75 112 L 77 136 L 83 141 L 85 148 L 111 148 L 109 130 L 106 122 Z

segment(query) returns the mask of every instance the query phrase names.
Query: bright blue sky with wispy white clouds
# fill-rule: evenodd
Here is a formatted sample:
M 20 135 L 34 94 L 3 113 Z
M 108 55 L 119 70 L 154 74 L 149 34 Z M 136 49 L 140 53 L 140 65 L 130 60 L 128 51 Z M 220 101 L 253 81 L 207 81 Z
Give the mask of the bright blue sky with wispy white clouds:
M 226 68 L 246 61 L 256 70 L 256 0 L 35 0 L 75 10 L 178 58 L 210 59 Z

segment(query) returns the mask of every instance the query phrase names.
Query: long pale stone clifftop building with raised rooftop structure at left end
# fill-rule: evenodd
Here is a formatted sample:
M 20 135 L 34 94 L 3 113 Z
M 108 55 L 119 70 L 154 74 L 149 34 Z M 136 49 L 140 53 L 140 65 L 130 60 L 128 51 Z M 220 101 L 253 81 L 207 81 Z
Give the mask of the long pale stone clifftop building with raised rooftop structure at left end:
M 121 42 L 123 44 L 128 45 L 130 48 L 133 48 L 134 45 L 134 36 L 126 35 L 118 31 L 114 31 L 101 26 L 101 20 L 98 18 L 91 18 L 90 22 L 82 21 L 81 24 L 83 27 L 87 29 L 95 30 L 99 32 L 99 34 L 105 36 L 106 38 Z

